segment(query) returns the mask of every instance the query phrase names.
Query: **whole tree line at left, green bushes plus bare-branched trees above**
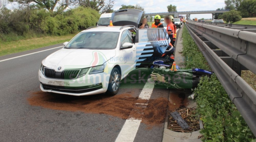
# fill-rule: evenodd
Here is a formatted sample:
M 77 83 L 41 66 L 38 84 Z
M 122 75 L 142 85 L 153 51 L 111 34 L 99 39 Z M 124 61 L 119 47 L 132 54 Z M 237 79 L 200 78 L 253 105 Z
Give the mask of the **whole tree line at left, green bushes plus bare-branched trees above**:
M 113 0 L 8 0 L 0 2 L 0 42 L 77 33 L 113 11 Z

